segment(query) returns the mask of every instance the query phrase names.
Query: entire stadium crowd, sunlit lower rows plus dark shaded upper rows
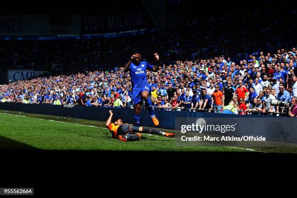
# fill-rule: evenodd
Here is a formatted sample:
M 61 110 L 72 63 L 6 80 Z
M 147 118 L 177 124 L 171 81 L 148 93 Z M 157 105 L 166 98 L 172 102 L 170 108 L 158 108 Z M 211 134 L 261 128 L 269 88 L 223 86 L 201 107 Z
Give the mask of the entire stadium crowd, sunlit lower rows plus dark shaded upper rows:
M 158 72 L 147 73 L 155 108 L 220 113 L 231 105 L 236 114 L 296 116 L 296 24 L 283 22 L 296 13 L 274 14 L 202 17 L 172 31 L 125 38 L 3 42 L 0 70 L 50 72 L 0 85 L 0 100 L 131 107 L 130 77 L 122 69 L 140 50 L 150 64 L 153 53 L 160 55 Z M 272 99 L 292 102 L 291 110 L 270 105 Z

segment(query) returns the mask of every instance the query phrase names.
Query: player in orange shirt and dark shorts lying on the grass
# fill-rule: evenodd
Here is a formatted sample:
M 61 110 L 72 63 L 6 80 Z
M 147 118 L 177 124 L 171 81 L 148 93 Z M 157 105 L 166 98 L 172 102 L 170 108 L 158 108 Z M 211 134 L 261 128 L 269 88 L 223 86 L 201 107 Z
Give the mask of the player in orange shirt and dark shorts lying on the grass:
M 132 124 L 123 124 L 123 120 L 121 118 L 115 118 L 114 123 L 112 123 L 113 112 L 109 111 L 109 118 L 106 121 L 105 126 L 110 130 L 113 135 L 113 138 L 120 139 L 121 141 L 135 141 L 141 139 L 141 133 L 153 133 L 153 134 L 161 134 L 167 137 L 174 137 L 174 133 L 161 132 L 159 130 L 150 128 L 150 127 L 138 127 L 133 126 Z

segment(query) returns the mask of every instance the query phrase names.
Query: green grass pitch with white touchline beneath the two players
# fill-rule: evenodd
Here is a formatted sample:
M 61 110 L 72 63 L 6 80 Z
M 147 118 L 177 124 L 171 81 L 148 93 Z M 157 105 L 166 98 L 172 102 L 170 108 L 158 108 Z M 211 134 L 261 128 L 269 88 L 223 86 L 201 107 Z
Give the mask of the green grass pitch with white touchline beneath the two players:
M 111 138 L 104 122 L 0 110 L 0 149 L 297 152 L 296 148 L 181 147 L 165 136 L 143 137 L 136 142 L 121 142 Z

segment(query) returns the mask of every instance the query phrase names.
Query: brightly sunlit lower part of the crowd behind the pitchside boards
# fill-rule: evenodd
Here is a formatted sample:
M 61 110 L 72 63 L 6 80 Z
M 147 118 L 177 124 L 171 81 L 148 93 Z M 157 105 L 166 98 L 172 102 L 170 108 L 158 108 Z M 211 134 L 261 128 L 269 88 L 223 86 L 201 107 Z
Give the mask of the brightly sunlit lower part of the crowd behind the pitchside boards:
M 216 56 L 197 61 L 176 61 L 147 71 L 155 108 L 162 110 L 217 110 L 232 104 L 238 114 L 297 115 L 294 107 L 272 106 L 272 99 L 296 106 L 296 48 L 260 51 L 247 60 L 232 62 Z M 123 63 L 124 64 L 124 63 Z M 123 65 L 122 64 L 122 65 Z M 131 81 L 123 67 L 111 71 L 87 71 L 13 82 L 0 86 L 1 102 L 77 104 L 102 107 L 132 107 Z M 231 110 L 231 109 L 230 109 Z

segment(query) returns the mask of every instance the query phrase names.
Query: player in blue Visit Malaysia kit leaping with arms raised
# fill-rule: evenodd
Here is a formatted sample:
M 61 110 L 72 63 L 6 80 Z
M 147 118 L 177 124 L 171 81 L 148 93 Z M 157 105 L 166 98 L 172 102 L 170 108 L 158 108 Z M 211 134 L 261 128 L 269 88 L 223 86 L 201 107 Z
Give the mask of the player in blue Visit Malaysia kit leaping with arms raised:
M 159 121 L 155 116 L 154 110 L 152 108 L 152 102 L 150 97 L 150 86 L 147 80 L 147 69 L 157 71 L 159 67 L 159 55 L 154 54 L 156 59 L 156 65 L 151 66 L 147 62 L 141 62 L 141 56 L 139 52 L 135 52 L 130 61 L 124 67 L 124 71 L 128 72 L 130 70 L 131 82 L 132 82 L 132 100 L 134 104 L 134 121 L 136 126 L 140 126 L 141 122 L 141 101 L 144 99 L 146 101 L 146 106 L 150 113 L 150 117 L 155 126 L 159 125 Z

